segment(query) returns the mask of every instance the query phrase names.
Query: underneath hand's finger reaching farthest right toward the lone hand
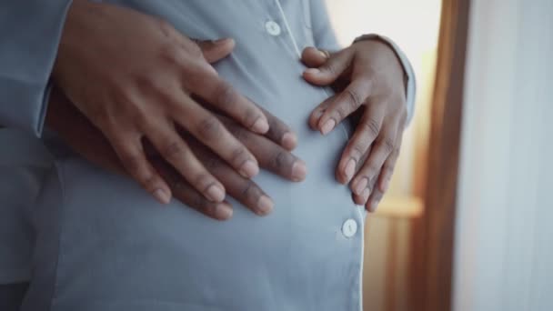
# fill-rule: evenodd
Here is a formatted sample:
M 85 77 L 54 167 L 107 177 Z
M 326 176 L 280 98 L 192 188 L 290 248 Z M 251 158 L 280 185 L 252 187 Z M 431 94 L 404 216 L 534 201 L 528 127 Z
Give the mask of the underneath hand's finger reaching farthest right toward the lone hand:
M 288 180 L 300 182 L 307 176 L 305 162 L 292 155 L 289 150 L 275 144 L 265 136 L 256 135 L 222 117 L 223 123 L 256 156 L 259 165 Z

